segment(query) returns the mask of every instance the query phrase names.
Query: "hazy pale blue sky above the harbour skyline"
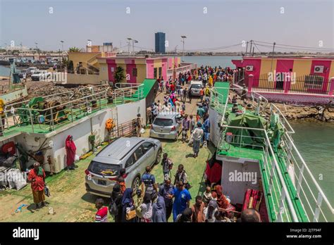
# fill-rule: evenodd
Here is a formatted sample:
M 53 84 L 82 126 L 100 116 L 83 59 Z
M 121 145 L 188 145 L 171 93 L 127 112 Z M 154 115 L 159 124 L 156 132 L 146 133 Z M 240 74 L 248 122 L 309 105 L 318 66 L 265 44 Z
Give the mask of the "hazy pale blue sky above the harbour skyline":
M 333 23 L 334 0 L 0 0 L 0 46 L 42 50 L 91 39 L 126 51 L 128 37 L 153 50 L 154 33 L 166 32 L 167 51 L 183 49 L 181 35 L 188 51 L 245 51 L 251 39 L 334 51 Z M 259 42 L 255 51 L 271 51 Z

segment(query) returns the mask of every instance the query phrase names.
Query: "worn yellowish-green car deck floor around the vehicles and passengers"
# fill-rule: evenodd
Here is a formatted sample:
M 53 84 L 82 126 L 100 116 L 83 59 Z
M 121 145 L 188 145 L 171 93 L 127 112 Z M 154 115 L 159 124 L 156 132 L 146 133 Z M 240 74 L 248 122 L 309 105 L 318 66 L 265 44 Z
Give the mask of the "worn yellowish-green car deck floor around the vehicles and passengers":
M 159 93 L 157 99 L 163 101 L 163 94 Z M 199 100 L 193 99 L 192 103 L 186 103 L 186 113 L 195 114 L 196 103 Z M 143 137 L 148 137 L 148 130 Z M 168 157 L 174 163 L 171 171 L 172 176 L 175 170 L 182 163 L 187 171 L 188 179 L 192 188 L 192 203 L 198 194 L 204 191 L 203 173 L 206 166 L 206 159 L 214 153 L 214 147 L 209 144 L 208 148 L 203 147 L 199 151 L 198 158 L 192 158 L 192 148 L 181 141 L 161 140 L 163 153 L 168 153 Z M 66 171 L 47 177 L 51 196 L 46 201 L 49 206 L 35 211 L 35 204 L 32 201 L 32 191 L 30 184 L 20 191 L 9 190 L 0 192 L 0 222 L 93 222 L 96 213 L 94 202 L 97 196 L 88 194 L 85 189 L 85 169 L 92 161 L 94 155 L 77 163 L 78 168 L 74 171 Z M 156 165 L 152 171 L 156 176 L 156 182 L 163 182 L 161 165 Z M 172 177 L 172 181 L 174 177 Z M 109 200 L 104 199 L 106 205 Z M 21 212 L 16 213 L 16 209 L 22 205 Z M 109 215 L 109 221 L 111 221 Z

